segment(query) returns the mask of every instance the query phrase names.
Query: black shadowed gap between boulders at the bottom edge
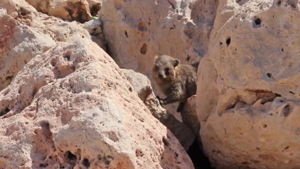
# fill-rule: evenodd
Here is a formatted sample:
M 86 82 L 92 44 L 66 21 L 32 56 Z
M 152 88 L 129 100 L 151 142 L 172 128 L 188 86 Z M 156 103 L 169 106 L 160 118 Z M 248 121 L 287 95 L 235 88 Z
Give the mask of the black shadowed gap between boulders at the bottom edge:
M 208 158 L 204 155 L 196 140 L 189 147 L 187 153 L 193 162 L 195 169 L 214 169 L 210 165 Z

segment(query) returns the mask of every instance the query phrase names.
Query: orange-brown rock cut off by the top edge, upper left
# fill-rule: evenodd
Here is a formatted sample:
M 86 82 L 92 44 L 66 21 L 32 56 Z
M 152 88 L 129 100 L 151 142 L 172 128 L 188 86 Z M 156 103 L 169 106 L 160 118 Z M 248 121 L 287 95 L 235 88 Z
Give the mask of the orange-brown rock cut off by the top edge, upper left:
M 84 23 L 97 15 L 102 0 L 26 0 L 39 12 Z

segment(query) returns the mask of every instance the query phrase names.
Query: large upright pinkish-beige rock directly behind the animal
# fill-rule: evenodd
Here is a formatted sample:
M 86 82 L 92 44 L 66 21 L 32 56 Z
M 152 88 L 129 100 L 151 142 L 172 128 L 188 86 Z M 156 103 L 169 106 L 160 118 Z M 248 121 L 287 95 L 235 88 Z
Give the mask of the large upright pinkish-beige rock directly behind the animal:
M 143 73 L 152 82 L 154 55 L 189 64 L 204 56 L 217 7 L 218 0 L 106 0 L 99 17 L 107 51 L 121 68 Z M 163 97 L 155 86 L 153 90 Z M 165 106 L 181 120 L 177 107 Z

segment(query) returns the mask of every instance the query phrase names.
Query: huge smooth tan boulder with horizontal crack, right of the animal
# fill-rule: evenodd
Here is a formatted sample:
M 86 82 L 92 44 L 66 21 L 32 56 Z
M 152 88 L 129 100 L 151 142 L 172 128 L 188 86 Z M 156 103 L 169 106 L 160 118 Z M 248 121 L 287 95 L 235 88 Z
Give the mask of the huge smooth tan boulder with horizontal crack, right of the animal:
M 298 0 L 220 0 L 196 96 L 217 168 L 300 168 Z

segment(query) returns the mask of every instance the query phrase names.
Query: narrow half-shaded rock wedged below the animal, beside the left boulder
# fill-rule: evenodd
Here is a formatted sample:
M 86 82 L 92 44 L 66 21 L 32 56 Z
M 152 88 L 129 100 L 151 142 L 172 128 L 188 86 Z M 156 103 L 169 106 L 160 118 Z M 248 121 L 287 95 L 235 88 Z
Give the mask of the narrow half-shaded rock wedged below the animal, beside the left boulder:
M 179 122 L 159 104 L 158 99 L 152 91 L 150 81 L 145 75 L 127 69 L 122 69 L 122 72 L 126 76 L 128 82 L 133 86 L 133 90 L 150 110 L 151 114 L 164 126 L 170 129 L 185 150 L 188 151 L 188 148 L 195 139 L 195 133 L 190 127 Z

